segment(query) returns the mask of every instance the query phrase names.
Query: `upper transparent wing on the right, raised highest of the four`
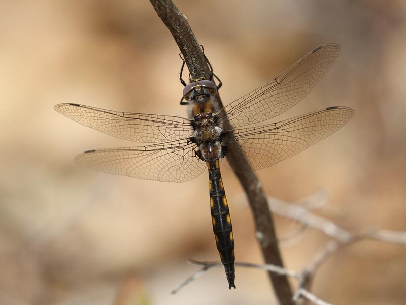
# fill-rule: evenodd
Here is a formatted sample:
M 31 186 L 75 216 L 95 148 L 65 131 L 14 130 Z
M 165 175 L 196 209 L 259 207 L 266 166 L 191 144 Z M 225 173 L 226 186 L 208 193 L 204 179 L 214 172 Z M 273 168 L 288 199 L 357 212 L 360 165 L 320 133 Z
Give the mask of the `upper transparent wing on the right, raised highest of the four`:
M 273 81 L 225 106 L 217 113 L 218 123 L 229 121 L 233 127 L 246 126 L 288 110 L 306 97 L 339 52 L 337 44 L 314 49 Z

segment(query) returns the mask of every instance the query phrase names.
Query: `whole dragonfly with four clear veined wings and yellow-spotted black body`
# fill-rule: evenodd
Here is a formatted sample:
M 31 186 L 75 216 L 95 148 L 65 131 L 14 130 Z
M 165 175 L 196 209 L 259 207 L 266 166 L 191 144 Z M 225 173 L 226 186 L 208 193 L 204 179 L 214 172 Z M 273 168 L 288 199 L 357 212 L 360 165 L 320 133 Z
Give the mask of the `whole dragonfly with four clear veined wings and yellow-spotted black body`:
M 340 45 L 334 43 L 315 48 L 272 81 L 221 109 L 216 106 L 219 85 L 215 84 L 213 74 L 210 79 L 192 79 L 183 90 L 183 98 L 190 104 L 188 118 L 119 112 L 74 103 L 54 108 L 105 134 L 152 143 L 87 150 L 75 158 L 80 166 L 162 182 L 189 181 L 208 169 L 213 232 L 231 289 L 235 288 L 234 236 L 220 160 L 233 169 L 228 160 L 233 153 L 234 162 L 236 159 L 239 163 L 238 171 L 259 170 L 296 155 L 343 127 L 354 115 L 345 106 L 266 122 L 306 97 L 339 52 Z

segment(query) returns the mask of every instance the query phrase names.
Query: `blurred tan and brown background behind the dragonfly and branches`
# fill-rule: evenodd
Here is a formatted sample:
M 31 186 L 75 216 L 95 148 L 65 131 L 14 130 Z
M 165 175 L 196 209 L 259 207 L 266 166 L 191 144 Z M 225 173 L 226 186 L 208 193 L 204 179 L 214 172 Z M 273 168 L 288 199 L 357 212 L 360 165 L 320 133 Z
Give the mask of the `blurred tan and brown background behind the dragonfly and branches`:
M 325 190 L 327 214 L 348 230 L 406 230 L 404 1 L 176 4 L 223 81 L 225 104 L 339 43 L 331 71 L 278 119 L 334 105 L 355 116 L 258 175 L 286 201 Z M 66 119 L 57 103 L 185 116 L 179 51 L 148 1 L 2 1 L 0 46 L 1 304 L 130 304 L 140 295 L 165 305 L 275 302 L 265 273 L 246 268 L 236 269 L 236 290 L 217 268 L 170 295 L 197 270 L 188 258 L 218 260 L 206 173 L 162 184 L 73 163 L 84 150 L 132 143 Z M 242 189 L 225 168 L 223 181 L 236 260 L 261 263 Z M 277 224 L 281 236 L 296 225 Z M 286 266 L 300 269 L 326 240 L 310 230 L 283 248 Z M 364 241 L 332 256 L 312 291 L 334 304 L 401 304 L 405 270 L 406 247 Z

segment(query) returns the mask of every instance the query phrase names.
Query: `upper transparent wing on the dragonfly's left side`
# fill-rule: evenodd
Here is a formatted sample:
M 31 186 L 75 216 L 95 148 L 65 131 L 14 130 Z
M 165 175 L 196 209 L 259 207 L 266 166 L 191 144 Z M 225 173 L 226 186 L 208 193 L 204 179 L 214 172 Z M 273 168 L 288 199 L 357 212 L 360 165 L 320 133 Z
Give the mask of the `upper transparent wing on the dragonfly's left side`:
M 177 116 L 117 112 L 79 104 L 58 104 L 56 111 L 84 126 L 134 142 L 165 142 L 190 137 L 190 120 Z

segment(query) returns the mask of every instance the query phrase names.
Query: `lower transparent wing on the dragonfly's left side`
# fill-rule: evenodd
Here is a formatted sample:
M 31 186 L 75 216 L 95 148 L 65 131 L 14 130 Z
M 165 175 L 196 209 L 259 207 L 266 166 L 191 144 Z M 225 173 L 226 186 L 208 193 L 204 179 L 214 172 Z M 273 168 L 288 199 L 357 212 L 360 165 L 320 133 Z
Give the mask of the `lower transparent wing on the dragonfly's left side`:
M 123 148 L 92 149 L 75 158 L 75 163 L 109 174 L 157 180 L 185 182 L 206 168 L 195 156 L 195 143 L 188 139 Z

